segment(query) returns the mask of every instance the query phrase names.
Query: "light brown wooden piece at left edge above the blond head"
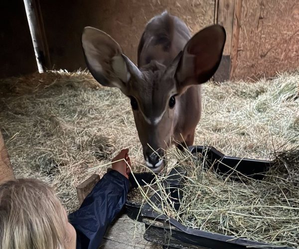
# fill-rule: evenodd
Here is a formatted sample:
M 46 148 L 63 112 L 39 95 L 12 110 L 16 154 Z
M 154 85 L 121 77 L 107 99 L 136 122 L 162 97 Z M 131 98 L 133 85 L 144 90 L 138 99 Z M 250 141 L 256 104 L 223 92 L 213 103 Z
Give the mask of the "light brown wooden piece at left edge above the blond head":
M 14 179 L 14 174 L 0 131 L 0 182 L 9 179 Z

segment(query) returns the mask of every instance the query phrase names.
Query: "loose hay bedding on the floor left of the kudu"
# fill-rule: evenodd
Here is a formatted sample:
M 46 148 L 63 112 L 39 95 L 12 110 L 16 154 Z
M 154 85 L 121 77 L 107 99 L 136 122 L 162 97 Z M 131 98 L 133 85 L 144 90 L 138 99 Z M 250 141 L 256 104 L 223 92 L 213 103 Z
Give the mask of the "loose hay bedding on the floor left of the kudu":
M 138 163 L 142 150 L 130 102 L 90 74 L 4 79 L 0 94 L 0 128 L 16 177 L 54 186 L 68 212 L 78 208 L 75 186 L 92 174 L 88 168 L 110 162 L 124 147 Z

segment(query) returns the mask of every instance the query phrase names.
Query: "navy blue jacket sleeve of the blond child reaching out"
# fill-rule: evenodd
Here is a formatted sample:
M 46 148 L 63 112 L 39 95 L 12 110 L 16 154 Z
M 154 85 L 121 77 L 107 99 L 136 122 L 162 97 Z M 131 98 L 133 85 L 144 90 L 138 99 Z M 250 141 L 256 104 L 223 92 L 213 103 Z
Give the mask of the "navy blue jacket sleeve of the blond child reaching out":
M 106 229 L 127 200 L 129 180 L 116 170 L 106 173 L 84 199 L 81 207 L 69 215 L 77 233 L 77 249 L 98 249 Z

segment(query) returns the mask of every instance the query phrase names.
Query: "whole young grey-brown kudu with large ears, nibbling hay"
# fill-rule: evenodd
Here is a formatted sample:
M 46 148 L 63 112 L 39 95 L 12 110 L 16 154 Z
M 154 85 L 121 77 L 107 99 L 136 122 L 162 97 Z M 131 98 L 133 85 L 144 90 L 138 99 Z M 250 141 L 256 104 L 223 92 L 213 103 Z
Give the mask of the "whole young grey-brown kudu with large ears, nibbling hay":
M 138 46 L 137 67 L 105 32 L 85 27 L 82 34 L 93 77 L 131 99 L 144 158 L 155 172 L 163 168 L 171 141 L 193 144 L 201 113 L 200 84 L 217 70 L 226 34 L 222 26 L 212 25 L 190 37 L 178 17 L 167 12 L 153 17 Z

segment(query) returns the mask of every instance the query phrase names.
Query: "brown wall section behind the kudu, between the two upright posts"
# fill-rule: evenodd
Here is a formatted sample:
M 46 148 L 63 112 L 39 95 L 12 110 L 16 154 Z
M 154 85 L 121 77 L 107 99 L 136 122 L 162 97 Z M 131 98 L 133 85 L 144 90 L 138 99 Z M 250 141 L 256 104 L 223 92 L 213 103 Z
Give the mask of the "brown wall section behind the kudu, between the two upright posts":
M 42 16 L 54 68 L 85 68 L 81 33 L 93 26 L 110 34 L 124 53 L 137 61 L 137 47 L 146 23 L 168 10 L 195 33 L 214 22 L 214 0 L 41 0 Z

